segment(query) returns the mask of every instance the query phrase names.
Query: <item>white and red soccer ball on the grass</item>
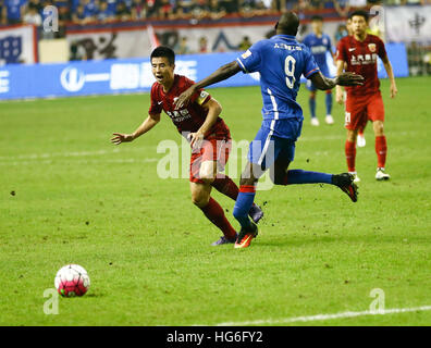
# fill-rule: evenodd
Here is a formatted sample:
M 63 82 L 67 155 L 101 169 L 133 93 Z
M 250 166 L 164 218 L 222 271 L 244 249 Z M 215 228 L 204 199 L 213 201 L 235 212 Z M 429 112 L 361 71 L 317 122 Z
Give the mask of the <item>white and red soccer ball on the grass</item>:
M 57 272 L 54 285 L 63 297 L 83 296 L 90 282 L 87 271 L 78 264 L 67 264 Z

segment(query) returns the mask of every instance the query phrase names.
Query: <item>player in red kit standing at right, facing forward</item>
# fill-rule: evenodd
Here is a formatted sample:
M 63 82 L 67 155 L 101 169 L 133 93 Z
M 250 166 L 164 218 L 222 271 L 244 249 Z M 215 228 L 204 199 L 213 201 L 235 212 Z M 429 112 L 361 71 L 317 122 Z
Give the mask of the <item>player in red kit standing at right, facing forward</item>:
M 383 41 L 378 36 L 367 34 L 368 13 L 358 10 L 353 12 L 349 18 L 352 20 L 353 35 L 342 38 L 338 42 L 336 52 L 337 74 L 340 75 L 343 72 L 344 64 L 346 64 L 347 72 L 360 74 L 366 79 L 362 86 L 346 87 L 345 127 L 347 128 L 347 140 L 345 153 L 348 172 L 355 175 L 356 182 L 359 182 L 355 167 L 355 141 L 358 130 L 365 127 L 368 120 L 371 120 L 378 157 L 375 178 L 387 181 L 390 178 L 390 175 L 385 172 L 387 146 L 383 132 L 384 107 L 378 78 L 378 57 L 383 61 L 391 80 L 391 98 L 394 98 L 397 94 L 395 77 Z M 336 87 L 336 101 L 343 103 L 343 90 L 338 86 Z

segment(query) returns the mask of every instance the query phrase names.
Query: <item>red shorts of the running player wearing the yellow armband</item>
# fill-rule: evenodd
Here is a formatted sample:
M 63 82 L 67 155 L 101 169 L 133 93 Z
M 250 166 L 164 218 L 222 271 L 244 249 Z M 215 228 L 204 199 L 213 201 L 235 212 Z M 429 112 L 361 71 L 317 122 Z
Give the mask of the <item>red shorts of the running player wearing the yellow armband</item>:
M 224 171 L 231 152 L 232 140 L 229 128 L 210 134 L 202 141 L 200 149 L 192 150 L 190 182 L 204 184 L 199 178 L 200 165 L 206 161 L 217 162 L 218 172 Z

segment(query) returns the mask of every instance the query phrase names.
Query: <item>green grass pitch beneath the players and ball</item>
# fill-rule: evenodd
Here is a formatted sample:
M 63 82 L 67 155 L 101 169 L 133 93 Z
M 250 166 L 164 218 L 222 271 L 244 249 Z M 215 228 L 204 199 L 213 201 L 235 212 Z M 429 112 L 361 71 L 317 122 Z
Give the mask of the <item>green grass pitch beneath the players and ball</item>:
M 386 309 L 431 306 L 431 78 L 398 78 L 385 102 L 392 179 L 374 179 L 371 124 L 357 150 L 359 201 L 333 186 L 259 191 L 266 217 L 251 247 L 211 247 L 219 231 L 190 202 L 187 178 L 157 175 L 161 140 L 180 135 L 162 122 L 114 147 L 147 116 L 149 96 L 0 103 L 0 325 L 214 325 L 282 323 L 296 316 L 365 311 L 384 291 Z M 211 89 L 236 141 L 251 140 L 261 116 L 258 87 Z M 309 124 L 291 169 L 346 171 L 343 108 Z M 241 163 L 237 164 L 241 166 Z M 238 179 L 236 178 L 237 183 Z M 234 202 L 213 197 L 232 216 Z M 91 286 L 44 313 L 47 288 L 67 263 Z M 431 311 L 364 315 L 290 325 L 430 325 Z

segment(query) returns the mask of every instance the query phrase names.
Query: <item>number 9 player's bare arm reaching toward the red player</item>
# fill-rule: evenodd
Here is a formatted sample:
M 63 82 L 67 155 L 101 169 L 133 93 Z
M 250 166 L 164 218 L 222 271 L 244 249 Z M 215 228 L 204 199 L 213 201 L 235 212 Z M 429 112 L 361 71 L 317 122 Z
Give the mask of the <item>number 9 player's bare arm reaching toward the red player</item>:
M 205 88 L 207 86 L 220 83 L 221 80 L 227 79 L 229 77 L 237 74 L 241 72 L 241 67 L 236 61 L 227 63 L 221 67 L 219 67 L 216 72 L 213 72 L 208 77 L 204 78 L 202 80 L 196 83 L 195 85 L 188 87 L 185 91 L 183 91 L 178 99 L 174 101 L 177 109 L 187 105 L 190 101 L 192 96 L 196 92 L 196 90 L 200 88 Z

